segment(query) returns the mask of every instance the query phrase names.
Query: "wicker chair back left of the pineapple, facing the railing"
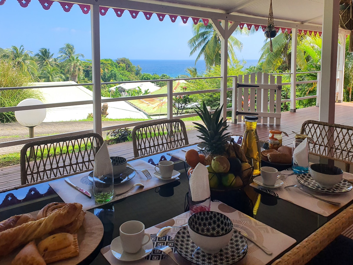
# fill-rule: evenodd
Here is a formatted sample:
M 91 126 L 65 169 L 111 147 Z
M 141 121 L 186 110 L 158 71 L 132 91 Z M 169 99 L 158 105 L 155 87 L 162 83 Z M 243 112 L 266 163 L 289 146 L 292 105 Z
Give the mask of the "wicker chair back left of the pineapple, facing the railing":
M 185 124 L 180 119 L 137 125 L 132 130 L 134 157 L 189 145 Z

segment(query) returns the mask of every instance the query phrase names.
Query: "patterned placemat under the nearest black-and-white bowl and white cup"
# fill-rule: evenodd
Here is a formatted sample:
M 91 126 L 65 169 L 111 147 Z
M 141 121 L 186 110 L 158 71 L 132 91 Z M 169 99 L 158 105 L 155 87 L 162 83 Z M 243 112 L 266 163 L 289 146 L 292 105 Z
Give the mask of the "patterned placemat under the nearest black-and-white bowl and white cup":
M 280 231 L 277 231 L 271 228 L 268 225 L 265 225 L 244 213 L 241 213 L 234 208 L 223 204 L 219 201 L 211 202 L 211 211 L 217 211 L 225 214 L 231 218 L 234 228 L 240 231 L 246 232 L 250 237 L 255 238 L 261 242 L 264 246 L 270 249 L 273 252 L 271 256 L 265 254 L 261 249 L 259 249 L 252 242 L 247 240 L 248 250 L 244 259 L 239 261 L 237 264 L 250 264 L 250 265 L 263 265 L 269 263 L 271 260 L 274 260 L 277 255 L 285 251 L 287 248 L 291 247 L 296 241 L 294 238 L 289 237 L 283 234 Z M 157 238 L 156 233 L 159 229 L 164 226 L 177 226 L 187 223 L 187 219 L 190 217 L 190 212 L 180 214 L 179 216 L 169 219 L 166 222 L 157 224 L 146 229 L 146 232 L 151 234 L 151 239 L 155 246 L 170 246 L 173 249 L 174 256 L 178 260 L 180 265 L 191 265 L 191 263 L 184 258 L 182 258 L 174 248 L 174 236 L 180 228 L 172 228 L 169 230 L 166 236 Z M 126 264 L 122 261 L 116 259 L 112 252 L 110 251 L 110 245 L 101 249 L 101 253 L 108 260 L 111 265 Z M 146 265 L 170 265 L 175 264 L 166 254 L 161 251 L 154 249 L 151 254 L 146 258 L 129 262 L 131 265 L 137 264 L 146 264 Z

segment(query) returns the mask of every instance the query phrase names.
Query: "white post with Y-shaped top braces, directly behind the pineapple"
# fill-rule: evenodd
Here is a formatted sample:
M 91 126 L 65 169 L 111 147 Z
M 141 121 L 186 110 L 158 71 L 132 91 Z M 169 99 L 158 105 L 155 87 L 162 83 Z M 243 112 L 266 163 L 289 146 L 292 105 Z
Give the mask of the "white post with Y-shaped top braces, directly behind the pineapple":
M 229 25 L 228 20 L 221 20 L 221 24 L 217 19 L 211 19 L 213 28 L 221 37 L 221 100 L 223 105 L 221 117 L 227 119 L 227 76 L 228 76 L 228 38 L 234 30 L 239 26 L 240 22 L 232 22 Z

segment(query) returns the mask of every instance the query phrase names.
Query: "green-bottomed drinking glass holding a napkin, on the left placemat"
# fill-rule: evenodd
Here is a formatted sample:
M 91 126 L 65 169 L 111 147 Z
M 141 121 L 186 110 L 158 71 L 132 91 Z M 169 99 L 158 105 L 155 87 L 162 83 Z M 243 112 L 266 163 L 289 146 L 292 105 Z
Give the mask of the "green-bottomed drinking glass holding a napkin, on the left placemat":
M 96 202 L 104 203 L 113 199 L 114 176 L 112 166 L 109 171 L 108 174 L 101 176 L 95 176 L 93 171 L 93 195 Z

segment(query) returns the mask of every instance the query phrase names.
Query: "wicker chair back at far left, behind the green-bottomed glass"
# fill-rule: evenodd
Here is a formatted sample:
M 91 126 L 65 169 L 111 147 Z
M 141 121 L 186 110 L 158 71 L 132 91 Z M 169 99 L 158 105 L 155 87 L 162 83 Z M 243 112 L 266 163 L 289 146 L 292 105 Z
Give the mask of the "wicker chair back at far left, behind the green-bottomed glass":
M 26 143 L 20 157 L 21 184 L 89 171 L 93 168 L 95 154 L 102 144 L 103 138 L 97 133 Z

